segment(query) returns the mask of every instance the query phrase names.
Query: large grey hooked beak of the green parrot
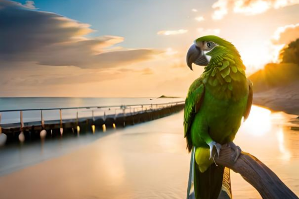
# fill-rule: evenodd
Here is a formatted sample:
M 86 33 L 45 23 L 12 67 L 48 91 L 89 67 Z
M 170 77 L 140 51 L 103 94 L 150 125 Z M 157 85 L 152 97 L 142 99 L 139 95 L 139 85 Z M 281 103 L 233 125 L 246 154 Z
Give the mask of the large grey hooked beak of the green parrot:
M 192 44 L 187 52 L 187 65 L 191 70 L 193 70 L 192 63 L 199 66 L 207 66 L 209 64 L 206 55 L 195 44 Z

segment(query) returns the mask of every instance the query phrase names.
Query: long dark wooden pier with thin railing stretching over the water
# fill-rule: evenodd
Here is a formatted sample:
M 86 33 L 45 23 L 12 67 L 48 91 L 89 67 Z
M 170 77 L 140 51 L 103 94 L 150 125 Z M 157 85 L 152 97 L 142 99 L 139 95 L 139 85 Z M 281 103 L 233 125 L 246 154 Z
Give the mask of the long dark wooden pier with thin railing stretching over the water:
M 19 109 L 19 110 L 0 110 L 0 112 L 20 112 L 20 122 L 0 124 L 3 134 L 6 135 L 6 144 L 13 142 L 27 142 L 44 138 L 61 137 L 65 135 L 77 135 L 78 133 L 95 133 L 95 131 L 106 131 L 109 128 L 125 127 L 154 119 L 158 119 L 184 108 L 184 101 L 159 103 L 159 104 L 134 104 L 121 106 L 87 106 L 87 107 L 67 107 L 67 108 L 44 108 L 44 109 Z M 92 116 L 78 117 L 73 119 L 63 119 L 62 110 L 66 109 L 85 109 L 92 112 Z M 94 115 L 96 109 L 115 109 L 115 114 Z M 121 113 L 116 113 L 116 110 Z M 42 112 L 47 110 L 57 110 L 60 118 L 55 120 L 43 120 Z M 23 112 L 40 111 L 40 121 L 24 122 Z M 43 131 L 45 130 L 45 131 Z M 42 132 L 43 131 L 43 132 Z

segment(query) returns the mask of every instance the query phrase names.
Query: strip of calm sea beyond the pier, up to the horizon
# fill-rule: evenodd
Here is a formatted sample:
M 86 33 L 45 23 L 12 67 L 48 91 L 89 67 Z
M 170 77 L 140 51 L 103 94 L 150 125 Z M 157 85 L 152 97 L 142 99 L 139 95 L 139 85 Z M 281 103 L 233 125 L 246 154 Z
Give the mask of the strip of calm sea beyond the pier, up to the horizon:
M 15 109 L 39 109 L 39 108 L 61 108 L 61 107 L 86 107 L 86 106 L 114 106 L 114 105 L 135 105 L 135 104 L 156 104 L 181 101 L 180 98 L 0 98 L 0 110 Z M 149 108 L 149 107 L 148 107 Z M 73 119 L 78 111 L 79 117 L 91 117 L 91 109 L 62 110 L 63 119 Z M 120 113 L 122 110 L 114 108 L 94 109 L 94 115 Z M 129 111 L 129 110 L 128 110 Z M 1 123 L 17 123 L 20 121 L 19 112 L 2 112 Z M 40 111 L 24 111 L 24 122 L 39 121 Z M 43 111 L 44 120 L 59 119 L 59 110 Z

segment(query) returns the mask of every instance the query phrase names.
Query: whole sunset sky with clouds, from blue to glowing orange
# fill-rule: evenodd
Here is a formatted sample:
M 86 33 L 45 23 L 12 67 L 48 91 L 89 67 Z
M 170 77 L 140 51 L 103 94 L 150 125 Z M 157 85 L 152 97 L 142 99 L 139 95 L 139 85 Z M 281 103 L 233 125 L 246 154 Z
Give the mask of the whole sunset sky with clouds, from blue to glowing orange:
M 185 97 L 204 35 L 247 75 L 299 38 L 299 0 L 0 0 L 0 97 Z

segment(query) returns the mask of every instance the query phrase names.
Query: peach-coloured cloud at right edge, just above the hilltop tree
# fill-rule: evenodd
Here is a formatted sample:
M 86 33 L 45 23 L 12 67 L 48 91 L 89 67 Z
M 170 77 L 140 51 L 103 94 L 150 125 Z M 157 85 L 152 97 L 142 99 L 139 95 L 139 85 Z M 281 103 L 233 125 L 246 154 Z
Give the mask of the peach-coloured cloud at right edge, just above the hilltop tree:
M 289 44 L 299 38 L 299 23 L 277 28 L 272 43 L 275 45 Z

